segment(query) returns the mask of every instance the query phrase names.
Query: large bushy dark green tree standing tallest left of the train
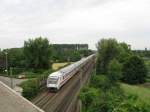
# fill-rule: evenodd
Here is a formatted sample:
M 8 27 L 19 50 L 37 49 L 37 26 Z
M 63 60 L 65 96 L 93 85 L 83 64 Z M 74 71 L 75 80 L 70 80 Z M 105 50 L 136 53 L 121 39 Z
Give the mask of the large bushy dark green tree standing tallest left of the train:
M 27 68 L 49 68 L 50 47 L 46 38 L 29 39 L 24 42 L 24 55 Z

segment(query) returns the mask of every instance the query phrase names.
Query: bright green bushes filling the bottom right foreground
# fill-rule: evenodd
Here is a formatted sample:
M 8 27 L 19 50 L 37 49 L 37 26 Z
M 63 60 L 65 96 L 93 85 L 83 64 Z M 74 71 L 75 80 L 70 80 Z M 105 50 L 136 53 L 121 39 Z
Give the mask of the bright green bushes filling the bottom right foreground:
M 139 89 L 124 89 L 119 85 L 109 86 L 107 89 L 102 89 L 98 85 L 98 81 L 94 82 L 93 79 L 104 79 L 104 75 L 94 75 L 92 76 L 89 86 L 86 86 L 82 89 L 80 93 L 80 99 L 82 101 L 82 111 L 83 112 L 149 112 L 150 103 L 149 103 L 149 91 L 141 91 Z M 104 80 L 103 80 L 104 81 Z M 102 84 L 106 85 L 108 80 L 105 80 Z M 128 88 L 128 87 L 127 87 Z M 124 91 L 125 90 L 125 91 Z M 129 94 L 129 91 L 133 91 L 134 94 Z M 136 91 L 139 91 L 139 95 L 136 94 Z M 144 96 L 141 94 L 143 92 L 147 93 L 147 101 L 141 100 Z

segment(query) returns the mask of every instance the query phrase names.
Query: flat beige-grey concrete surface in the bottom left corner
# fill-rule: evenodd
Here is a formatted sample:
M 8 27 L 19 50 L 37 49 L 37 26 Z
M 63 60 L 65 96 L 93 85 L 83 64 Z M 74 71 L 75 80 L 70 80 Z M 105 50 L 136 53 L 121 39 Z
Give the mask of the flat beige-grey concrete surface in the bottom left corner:
M 0 81 L 1 112 L 44 112 Z

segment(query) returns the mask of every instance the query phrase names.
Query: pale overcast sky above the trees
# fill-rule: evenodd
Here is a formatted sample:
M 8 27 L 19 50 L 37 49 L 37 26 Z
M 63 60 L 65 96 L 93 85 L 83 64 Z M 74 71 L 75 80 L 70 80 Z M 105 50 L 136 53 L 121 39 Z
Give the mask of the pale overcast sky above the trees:
M 0 48 L 39 36 L 90 49 L 102 38 L 150 49 L 150 0 L 0 0 Z

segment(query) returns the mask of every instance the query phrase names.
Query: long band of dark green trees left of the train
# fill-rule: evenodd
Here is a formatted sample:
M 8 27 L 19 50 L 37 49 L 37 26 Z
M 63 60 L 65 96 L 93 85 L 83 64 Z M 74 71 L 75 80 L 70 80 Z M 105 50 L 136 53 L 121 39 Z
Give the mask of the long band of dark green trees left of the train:
M 6 74 L 6 53 L 8 69 L 13 67 L 13 76 L 22 73 L 42 73 L 51 69 L 56 62 L 74 62 L 92 53 L 87 44 L 49 44 L 46 38 L 29 39 L 22 48 L 0 51 L 0 73 Z M 9 70 L 8 70 L 9 71 Z

